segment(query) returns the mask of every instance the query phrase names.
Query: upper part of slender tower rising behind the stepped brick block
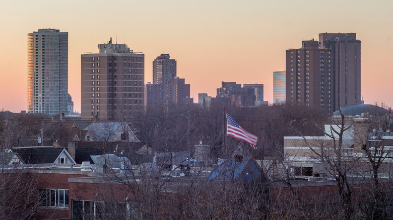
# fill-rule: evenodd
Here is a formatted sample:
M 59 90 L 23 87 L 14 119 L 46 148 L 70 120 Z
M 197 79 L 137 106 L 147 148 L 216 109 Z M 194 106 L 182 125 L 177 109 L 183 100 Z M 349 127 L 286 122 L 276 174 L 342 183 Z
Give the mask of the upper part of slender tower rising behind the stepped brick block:
M 176 77 L 176 60 L 162 53 L 153 60 L 153 84 L 168 83 Z

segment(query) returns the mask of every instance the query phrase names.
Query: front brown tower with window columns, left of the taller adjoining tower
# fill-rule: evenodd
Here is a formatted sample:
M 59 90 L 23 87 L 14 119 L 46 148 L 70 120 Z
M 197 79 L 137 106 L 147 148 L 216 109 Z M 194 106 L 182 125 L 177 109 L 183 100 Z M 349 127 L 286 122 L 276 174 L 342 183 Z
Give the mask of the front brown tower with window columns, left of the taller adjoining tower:
M 302 48 L 286 51 L 287 101 L 334 112 L 331 55 L 331 49 L 319 48 L 314 40 L 302 41 Z

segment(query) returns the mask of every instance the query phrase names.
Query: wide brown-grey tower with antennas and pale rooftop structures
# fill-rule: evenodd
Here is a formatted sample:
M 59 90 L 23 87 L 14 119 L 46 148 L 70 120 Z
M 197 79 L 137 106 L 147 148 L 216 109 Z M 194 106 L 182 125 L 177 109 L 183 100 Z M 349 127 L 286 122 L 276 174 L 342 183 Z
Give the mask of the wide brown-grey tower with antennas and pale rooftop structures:
M 83 54 L 81 120 L 130 120 L 144 112 L 145 55 L 125 44 L 100 44 Z

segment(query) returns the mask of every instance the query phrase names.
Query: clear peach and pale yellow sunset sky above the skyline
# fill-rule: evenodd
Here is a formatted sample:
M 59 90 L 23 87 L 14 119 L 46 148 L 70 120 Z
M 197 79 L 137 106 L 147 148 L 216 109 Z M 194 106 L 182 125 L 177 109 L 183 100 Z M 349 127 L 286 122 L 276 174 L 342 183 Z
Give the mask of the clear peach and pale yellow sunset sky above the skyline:
M 393 0 L 385 1 L 5 1 L 0 13 L 0 111 L 27 110 L 27 34 L 69 34 L 69 93 L 81 109 L 81 54 L 125 43 L 145 54 L 145 83 L 161 53 L 177 60 L 191 97 L 216 95 L 222 81 L 264 84 L 273 101 L 273 72 L 285 50 L 319 33 L 361 40 L 361 92 L 367 104 L 393 106 Z

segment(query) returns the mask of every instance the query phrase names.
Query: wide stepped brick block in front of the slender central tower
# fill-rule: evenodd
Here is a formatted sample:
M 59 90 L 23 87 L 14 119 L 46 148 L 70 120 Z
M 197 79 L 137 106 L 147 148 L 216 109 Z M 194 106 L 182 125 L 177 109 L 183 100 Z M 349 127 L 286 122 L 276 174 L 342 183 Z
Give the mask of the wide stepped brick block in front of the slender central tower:
M 146 84 L 146 108 L 162 103 L 186 104 L 192 103 L 190 98 L 190 84 L 185 84 L 185 79 L 175 77 L 168 83 Z

